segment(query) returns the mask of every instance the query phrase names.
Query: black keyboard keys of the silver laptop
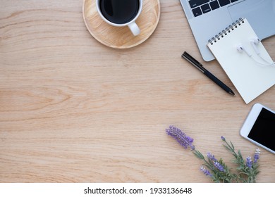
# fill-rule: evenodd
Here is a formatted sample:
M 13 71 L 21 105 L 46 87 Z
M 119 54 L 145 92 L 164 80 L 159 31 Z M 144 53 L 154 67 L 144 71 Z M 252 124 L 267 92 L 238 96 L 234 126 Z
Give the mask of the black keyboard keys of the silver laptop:
M 194 16 L 202 15 L 202 13 L 208 13 L 214 11 L 217 8 L 226 6 L 238 0 L 190 0 L 190 8 L 193 11 Z

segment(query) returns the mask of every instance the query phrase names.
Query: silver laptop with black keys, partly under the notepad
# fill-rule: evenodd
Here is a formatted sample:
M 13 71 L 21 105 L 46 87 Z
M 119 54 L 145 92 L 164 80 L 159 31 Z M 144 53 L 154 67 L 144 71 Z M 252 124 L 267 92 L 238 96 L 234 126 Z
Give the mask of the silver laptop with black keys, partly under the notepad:
M 247 18 L 262 40 L 275 34 L 275 0 L 180 0 L 204 61 L 207 42 L 239 18 Z

